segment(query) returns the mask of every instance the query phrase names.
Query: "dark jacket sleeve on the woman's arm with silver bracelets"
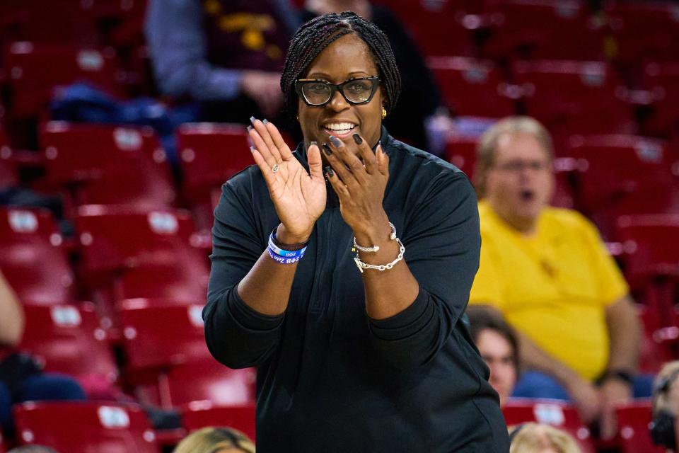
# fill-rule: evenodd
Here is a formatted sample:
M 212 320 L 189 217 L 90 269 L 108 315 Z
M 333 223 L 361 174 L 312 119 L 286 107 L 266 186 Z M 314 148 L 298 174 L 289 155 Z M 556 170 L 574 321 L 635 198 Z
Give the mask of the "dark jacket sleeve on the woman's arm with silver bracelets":
M 444 171 L 418 201 L 401 238 L 419 294 L 399 314 L 369 320 L 374 347 L 400 369 L 424 365 L 443 348 L 467 307 L 479 266 L 479 214 L 467 177 Z

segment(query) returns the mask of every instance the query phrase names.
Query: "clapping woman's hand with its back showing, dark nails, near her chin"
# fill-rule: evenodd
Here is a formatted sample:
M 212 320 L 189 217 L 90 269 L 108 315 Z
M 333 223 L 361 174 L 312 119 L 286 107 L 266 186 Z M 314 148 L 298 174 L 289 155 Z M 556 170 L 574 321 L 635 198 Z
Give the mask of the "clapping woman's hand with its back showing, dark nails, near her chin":
M 325 168 L 327 180 L 340 198 L 342 218 L 356 238 L 383 230 L 388 222 L 382 202 L 389 180 L 389 157 L 382 145 L 373 153 L 368 143 L 354 134 L 350 144 L 332 137 L 323 152 L 332 166 Z

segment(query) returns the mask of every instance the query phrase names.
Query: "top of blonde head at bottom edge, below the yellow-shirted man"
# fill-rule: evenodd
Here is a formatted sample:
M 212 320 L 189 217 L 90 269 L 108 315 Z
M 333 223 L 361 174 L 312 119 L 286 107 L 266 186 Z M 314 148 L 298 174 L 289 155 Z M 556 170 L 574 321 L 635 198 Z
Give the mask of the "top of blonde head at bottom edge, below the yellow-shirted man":
M 524 423 L 516 433 L 509 453 L 538 453 L 552 447 L 559 453 L 581 453 L 580 447 L 567 432 L 541 423 Z

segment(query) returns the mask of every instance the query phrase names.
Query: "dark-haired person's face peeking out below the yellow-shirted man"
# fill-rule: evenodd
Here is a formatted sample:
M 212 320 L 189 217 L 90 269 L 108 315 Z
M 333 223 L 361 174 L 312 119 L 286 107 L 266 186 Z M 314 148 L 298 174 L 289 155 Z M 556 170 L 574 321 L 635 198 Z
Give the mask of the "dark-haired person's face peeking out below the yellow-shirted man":
M 470 332 L 481 357 L 490 369 L 490 385 L 503 407 L 518 378 L 519 357 L 516 333 L 502 316 L 482 306 L 469 306 Z

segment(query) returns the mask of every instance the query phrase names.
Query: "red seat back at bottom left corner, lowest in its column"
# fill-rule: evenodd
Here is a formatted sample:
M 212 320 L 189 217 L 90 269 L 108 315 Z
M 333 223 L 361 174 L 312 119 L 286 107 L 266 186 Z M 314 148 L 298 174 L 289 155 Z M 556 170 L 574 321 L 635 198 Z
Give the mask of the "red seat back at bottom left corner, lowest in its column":
M 19 441 L 69 453 L 159 453 L 149 418 L 133 404 L 23 403 L 15 406 Z

